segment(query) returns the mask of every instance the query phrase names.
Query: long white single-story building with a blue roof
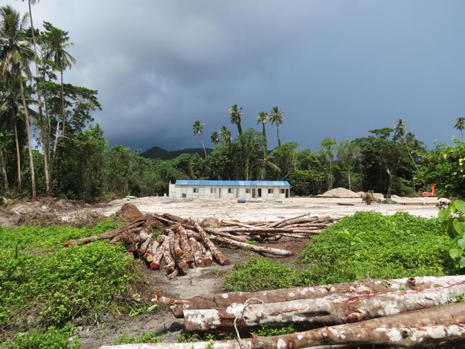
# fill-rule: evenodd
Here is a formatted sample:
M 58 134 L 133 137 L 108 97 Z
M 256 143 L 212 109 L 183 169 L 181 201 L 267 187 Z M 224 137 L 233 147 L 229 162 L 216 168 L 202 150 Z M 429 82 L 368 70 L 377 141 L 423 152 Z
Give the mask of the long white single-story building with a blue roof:
M 288 181 L 192 181 L 176 179 L 169 183 L 169 197 L 189 199 L 285 199 Z

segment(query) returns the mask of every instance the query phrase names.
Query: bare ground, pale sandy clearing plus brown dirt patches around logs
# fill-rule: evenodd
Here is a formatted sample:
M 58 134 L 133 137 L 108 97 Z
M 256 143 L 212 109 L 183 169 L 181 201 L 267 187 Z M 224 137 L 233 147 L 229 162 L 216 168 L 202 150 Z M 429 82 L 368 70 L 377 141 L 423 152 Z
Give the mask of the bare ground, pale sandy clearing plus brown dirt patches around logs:
M 395 212 L 410 212 L 420 217 L 437 217 L 437 204 L 446 199 L 436 197 L 401 198 L 393 197 L 396 204 L 373 202 L 366 205 L 359 197 L 292 197 L 280 201 L 247 201 L 238 203 L 237 199 L 172 199 L 169 197 L 125 198 L 87 205 L 70 201 L 38 201 L 37 203 L 14 203 L 8 208 L 0 207 L 0 225 L 18 226 L 21 223 L 31 223 L 41 217 L 45 222 L 50 217 L 50 223 L 69 222 L 92 215 L 110 216 L 121 209 L 123 203 L 133 203 L 143 214 L 169 213 L 183 218 L 216 219 L 247 221 L 276 221 L 287 217 L 309 214 L 311 216 L 344 217 L 357 211 L 375 211 L 383 215 Z M 58 221 L 58 222 L 57 222 Z M 278 246 L 275 246 L 278 247 Z M 302 241 L 283 242 L 281 248 L 298 252 L 304 247 Z M 221 292 L 222 283 L 227 272 L 235 263 L 245 261 L 254 256 L 253 252 L 222 248 L 223 253 L 231 260 L 231 265 L 224 267 L 212 265 L 209 268 L 189 270 L 187 275 L 168 280 L 161 270 L 151 271 L 144 266 L 139 272 L 144 276 L 145 284 L 139 292 L 144 299 L 151 299 L 160 289 L 163 295 L 169 297 L 188 298 L 198 295 L 211 295 Z M 295 259 L 295 258 L 294 258 Z M 293 259 L 280 259 L 289 263 Z M 92 326 L 81 326 L 79 337 L 84 349 L 99 348 L 110 345 L 114 339 L 123 334 L 140 337 L 143 332 L 156 332 L 164 342 L 176 342 L 183 324 L 174 318 L 167 308 L 152 314 L 145 313 L 128 319 L 120 315 L 108 315 L 101 322 Z

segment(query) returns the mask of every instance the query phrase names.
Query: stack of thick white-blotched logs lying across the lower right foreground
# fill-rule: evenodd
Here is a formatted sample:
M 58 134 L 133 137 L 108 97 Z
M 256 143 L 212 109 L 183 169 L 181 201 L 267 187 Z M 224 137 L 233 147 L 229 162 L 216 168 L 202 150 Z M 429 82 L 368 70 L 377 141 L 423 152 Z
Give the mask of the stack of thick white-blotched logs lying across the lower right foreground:
M 465 275 L 374 280 L 308 288 L 232 292 L 216 297 L 169 299 L 176 317 L 191 331 L 234 331 L 238 339 L 157 343 L 106 348 L 349 348 L 384 345 L 422 347 L 465 343 Z M 290 335 L 248 339 L 259 326 L 295 326 Z

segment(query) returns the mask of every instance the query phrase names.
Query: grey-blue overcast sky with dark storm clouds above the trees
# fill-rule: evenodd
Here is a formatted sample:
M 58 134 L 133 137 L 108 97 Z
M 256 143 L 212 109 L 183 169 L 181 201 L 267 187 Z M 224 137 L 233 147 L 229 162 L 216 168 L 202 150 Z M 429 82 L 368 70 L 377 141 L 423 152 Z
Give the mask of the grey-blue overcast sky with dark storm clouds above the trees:
M 26 12 L 27 0 L 0 0 Z M 393 127 L 428 148 L 452 143 L 465 117 L 465 1 L 41 0 L 43 21 L 68 30 L 76 59 L 65 82 L 99 90 L 110 145 L 198 148 L 279 106 L 282 142 L 315 150 Z M 267 125 L 270 148 L 276 127 Z

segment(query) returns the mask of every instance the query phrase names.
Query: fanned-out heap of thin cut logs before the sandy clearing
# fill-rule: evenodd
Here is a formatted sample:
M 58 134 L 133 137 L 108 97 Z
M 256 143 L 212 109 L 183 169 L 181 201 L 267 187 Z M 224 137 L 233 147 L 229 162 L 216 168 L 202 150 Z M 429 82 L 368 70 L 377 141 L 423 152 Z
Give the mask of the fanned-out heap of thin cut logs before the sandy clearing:
M 134 207 L 132 211 L 134 210 L 137 209 Z M 311 217 L 309 214 L 275 222 L 247 223 L 214 219 L 198 222 L 167 213 L 145 217 L 139 214 L 136 217 L 138 218 L 127 226 L 68 241 L 65 246 L 101 239 L 110 239 L 110 243 L 120 241 L 127 248 L 127 253 L 134 258 L 143 259 L 152 270 L 163 267 L 167 277 L 173 279 L 187 273 L 189 268 L 203 268 L 214 261 L 221 266 L 229 264 L 229 259 L 217 245 L 247 248 L 262 255 L 292 256 L 294 251 L 260 246 L 259 243 L 308 239 L 309 235 L 317 234 L 335 221 L 331 217 Z

